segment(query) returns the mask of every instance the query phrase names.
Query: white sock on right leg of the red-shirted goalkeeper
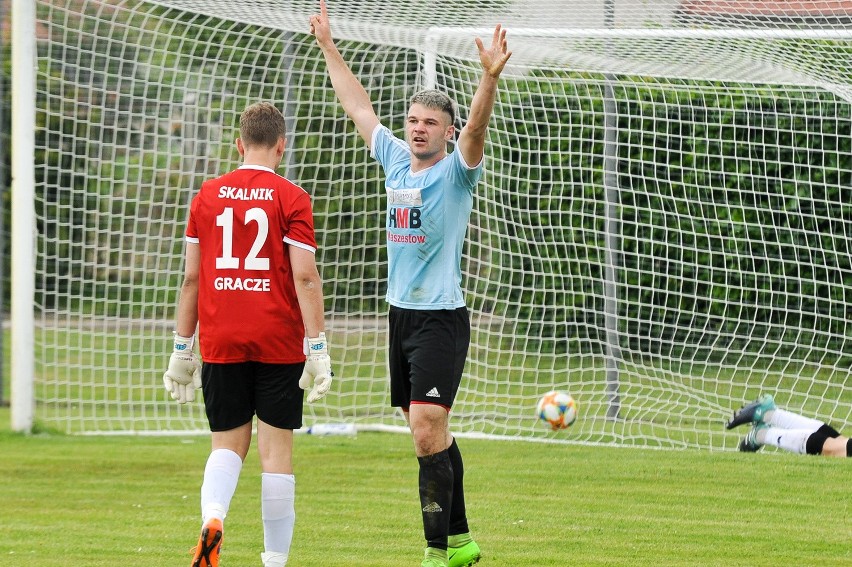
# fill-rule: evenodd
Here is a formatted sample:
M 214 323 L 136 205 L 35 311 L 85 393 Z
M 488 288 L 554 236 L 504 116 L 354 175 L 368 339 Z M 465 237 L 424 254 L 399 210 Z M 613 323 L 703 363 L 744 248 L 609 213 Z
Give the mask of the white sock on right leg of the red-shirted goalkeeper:
M 263 473 L 260 494 L 263 546 L 268 553 L 289 555 L 296 524 L 296 477 Z

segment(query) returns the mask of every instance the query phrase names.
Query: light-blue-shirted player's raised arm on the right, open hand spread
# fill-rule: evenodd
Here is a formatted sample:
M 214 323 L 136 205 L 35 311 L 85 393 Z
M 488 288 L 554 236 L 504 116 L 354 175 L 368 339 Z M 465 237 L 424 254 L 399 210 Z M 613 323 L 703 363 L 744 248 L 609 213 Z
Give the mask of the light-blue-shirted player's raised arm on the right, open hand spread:
M 500 24 L 494 28 L 494 37 L 488 49 L 479 38 L 476 38 L 476 47 L 479 49 L 479 60 L 482 62 L 482 79 L 473 95 L 470 116 L 459 134 L 458 141 L 459 151 L 468 165 L 476 165 L 482 160 L 485 151 L 485 131 L 491 120 L 491 111 L 494 109 L 494 99 L 497 96 L 497 81 L 500 73 L 503 72 L 503 67 L 512 56 L 506 43 L 506 30 L 502 29 Z

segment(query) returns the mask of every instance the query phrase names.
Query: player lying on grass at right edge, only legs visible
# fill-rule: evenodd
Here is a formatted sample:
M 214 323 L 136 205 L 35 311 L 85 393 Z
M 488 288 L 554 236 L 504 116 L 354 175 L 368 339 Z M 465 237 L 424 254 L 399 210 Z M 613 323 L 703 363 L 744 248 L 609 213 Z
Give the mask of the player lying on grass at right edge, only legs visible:
M 852 457 L 852 441 L 848 437 L 818 419 L 779 408 L 769 394 L 734 412 L 726 427 L 733 429 L 744 424 L 752 426 L 740 441 L 739 449 L 745 453 L 771 445 L 800 455 Z

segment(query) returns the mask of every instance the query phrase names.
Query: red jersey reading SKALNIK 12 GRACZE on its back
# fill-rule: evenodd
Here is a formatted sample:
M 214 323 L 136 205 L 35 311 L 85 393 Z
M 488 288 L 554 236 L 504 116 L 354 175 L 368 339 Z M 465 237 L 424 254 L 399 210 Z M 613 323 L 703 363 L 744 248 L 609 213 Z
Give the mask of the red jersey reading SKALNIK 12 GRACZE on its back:
M 198 338 L 205 362 L 305 360 L 288 246 L 316 251 L 310 197 L 273 170 L 244 165 L 193 198 L 187 242 L 198 243 Z

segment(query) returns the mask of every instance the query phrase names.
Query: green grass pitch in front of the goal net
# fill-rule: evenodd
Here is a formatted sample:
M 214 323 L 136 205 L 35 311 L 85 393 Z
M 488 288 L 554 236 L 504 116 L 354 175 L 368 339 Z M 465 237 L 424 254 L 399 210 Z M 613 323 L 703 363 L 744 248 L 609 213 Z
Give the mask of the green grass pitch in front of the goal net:
M 206 437 L 20 436 L 0 410 L 0 564 L 186 567 Z M 483 567 L 852 565 L 852 460 L 460 439 Z M 418 566 L 410 439 L 296 439 L 288 567 Z M 222 567 L 259 565 L 250 452 Z

